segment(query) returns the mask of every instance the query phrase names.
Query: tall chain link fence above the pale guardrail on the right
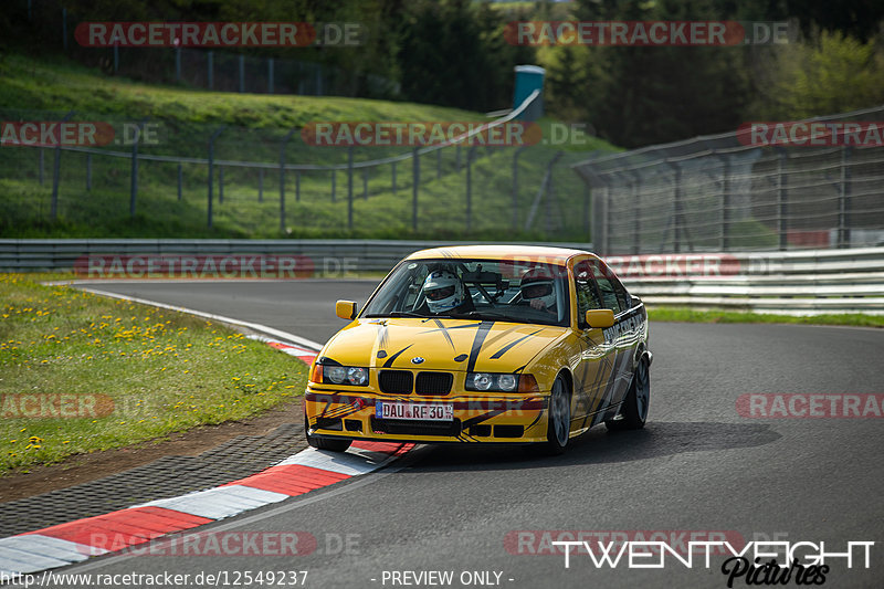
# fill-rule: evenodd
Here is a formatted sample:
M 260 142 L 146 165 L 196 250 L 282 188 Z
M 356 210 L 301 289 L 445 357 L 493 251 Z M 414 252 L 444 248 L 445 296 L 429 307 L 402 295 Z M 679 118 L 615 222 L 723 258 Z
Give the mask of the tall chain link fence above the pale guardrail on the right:
M 876 107 L 812 120 L 884 129 L 882 114 L 884 107 Z M 884 244 L 884 149 L 838 145 L 851 141 L 836 136 L 828 146 L 744 145 L 750 139 L 748 132 L 704 136 L 597 154 L 575 165 L 592 193 L 596 250 L 608 255 Z

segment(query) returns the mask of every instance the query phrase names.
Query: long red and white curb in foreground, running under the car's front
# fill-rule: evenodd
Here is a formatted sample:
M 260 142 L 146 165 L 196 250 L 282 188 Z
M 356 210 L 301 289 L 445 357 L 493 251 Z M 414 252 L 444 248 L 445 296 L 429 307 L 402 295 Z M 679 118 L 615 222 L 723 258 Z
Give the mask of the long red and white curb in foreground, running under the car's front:
M 344 453 L 307 448 L 221 486 L 0 538 L 0 575 L 63 567 L 296 497 L 381 469 L 413 445 L 356 441 Z

